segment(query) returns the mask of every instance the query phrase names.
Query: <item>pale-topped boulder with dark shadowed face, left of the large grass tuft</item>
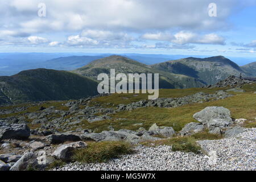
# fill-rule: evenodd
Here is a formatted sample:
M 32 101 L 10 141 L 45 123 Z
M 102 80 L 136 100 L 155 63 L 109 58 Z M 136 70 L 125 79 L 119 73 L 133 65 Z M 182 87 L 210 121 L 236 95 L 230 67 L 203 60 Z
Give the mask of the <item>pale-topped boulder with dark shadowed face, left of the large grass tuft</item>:
M 85 148 L 86 146 L 87 144 L 81 141 L 63 144 L 60 147 L 57 147 L 57 149 L 53 152 L 52 156 L 57 159 L 69 161 L 71 159 L 73 150 L 75 150 L 76 148 Z

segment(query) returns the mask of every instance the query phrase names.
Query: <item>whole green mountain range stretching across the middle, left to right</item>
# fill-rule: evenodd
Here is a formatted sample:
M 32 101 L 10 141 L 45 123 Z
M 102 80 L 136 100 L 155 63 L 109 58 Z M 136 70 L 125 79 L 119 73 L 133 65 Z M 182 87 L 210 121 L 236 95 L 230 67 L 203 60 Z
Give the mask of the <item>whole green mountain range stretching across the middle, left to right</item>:
M 235 75 L 255 77 L 256 62 L 239 67 L 223 56 L 187 57 L 147 65 L 118 55 L 108 57 L 69 56 L 46 61 L 82 67 L 73 71 L 31 69 L 13 76 L 0 76 L 0 105 L 23 101 L 72 100 L 97 94 L 97 75 L 110 73 L 159 73 L 159 88 L 192 88 L 215 84 Z M 8 60 L 6 60 L 8 61 Z

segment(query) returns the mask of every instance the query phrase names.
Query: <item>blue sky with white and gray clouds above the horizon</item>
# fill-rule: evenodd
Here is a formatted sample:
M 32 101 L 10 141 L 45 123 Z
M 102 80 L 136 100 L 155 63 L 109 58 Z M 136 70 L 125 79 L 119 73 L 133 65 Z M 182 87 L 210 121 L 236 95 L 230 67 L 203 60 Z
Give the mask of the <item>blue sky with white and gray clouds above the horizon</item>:
M 0 17 L 0 52 L 256 57 L 256 0 L 6 0 Z

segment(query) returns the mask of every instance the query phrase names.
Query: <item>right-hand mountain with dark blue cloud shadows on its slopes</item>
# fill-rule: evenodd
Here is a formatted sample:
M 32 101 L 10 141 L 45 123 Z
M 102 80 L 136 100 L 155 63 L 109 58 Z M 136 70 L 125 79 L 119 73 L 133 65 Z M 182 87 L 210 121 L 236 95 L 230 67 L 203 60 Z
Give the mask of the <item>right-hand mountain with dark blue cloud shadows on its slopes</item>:
M 170 73 L 198 78 L 208 85 L 216 84 L 216 82 L 230 75 L 240 76 L 240 73 L 242 73 L 242 76 L 249 76 L 236 63 L 224 56 L 207 57 L 204 59 L 188 57 L 154 64 L 151 67 Z

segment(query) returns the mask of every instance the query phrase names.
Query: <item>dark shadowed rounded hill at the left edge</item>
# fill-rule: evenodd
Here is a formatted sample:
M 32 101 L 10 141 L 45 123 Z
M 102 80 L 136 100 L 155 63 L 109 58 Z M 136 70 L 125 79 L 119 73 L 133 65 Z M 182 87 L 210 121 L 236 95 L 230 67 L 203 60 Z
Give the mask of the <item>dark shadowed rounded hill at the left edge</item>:
M 98 82 L 67 71 L 32 69 L 0 77 L 0 104 L 94 96 Z

